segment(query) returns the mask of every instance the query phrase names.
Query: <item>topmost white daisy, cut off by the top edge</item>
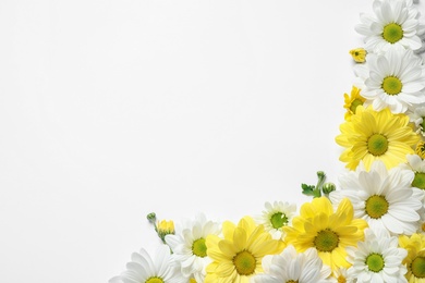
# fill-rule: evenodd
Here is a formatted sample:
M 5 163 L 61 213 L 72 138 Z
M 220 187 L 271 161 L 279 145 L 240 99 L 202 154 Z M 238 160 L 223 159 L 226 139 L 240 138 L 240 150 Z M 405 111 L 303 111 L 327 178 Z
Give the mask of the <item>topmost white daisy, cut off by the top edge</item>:
M 368 52 L 386 52 L 389 49 L 418 50 L 425 26 L 420 22 L 420 13 L 412 1 L 375 0 L 375 15 L 361 14 L 361 24 L 355 30 L 365 36 Z

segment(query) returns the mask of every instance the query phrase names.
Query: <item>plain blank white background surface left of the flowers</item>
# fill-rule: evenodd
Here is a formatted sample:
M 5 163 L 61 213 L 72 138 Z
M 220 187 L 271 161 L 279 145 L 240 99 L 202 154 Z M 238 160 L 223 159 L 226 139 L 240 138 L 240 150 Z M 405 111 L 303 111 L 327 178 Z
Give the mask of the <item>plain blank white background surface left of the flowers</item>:
M 344 164 L 369 0 L 0 1 L 0 281 L 94 283 L 146 214 L 238 221 Z

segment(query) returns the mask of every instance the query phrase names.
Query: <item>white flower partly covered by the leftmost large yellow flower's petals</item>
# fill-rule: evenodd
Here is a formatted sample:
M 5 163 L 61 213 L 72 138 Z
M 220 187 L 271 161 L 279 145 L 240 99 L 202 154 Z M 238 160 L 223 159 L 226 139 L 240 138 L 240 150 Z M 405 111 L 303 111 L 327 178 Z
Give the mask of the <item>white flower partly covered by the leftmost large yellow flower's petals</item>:
M 197 214 L 195 219 L 187 220 L 178 226 L 174 235 L 167 235 L 166 242 L 173 251 L 173 258 L 178 262 L 181 272 L 186 278 L 195 278 L 196 282 L 204 282 L 205 267 L 211 262 L 207 257 L 205 239 L 208 235 L 218 235 L 220 225 L 207 221 L 204 214 Z

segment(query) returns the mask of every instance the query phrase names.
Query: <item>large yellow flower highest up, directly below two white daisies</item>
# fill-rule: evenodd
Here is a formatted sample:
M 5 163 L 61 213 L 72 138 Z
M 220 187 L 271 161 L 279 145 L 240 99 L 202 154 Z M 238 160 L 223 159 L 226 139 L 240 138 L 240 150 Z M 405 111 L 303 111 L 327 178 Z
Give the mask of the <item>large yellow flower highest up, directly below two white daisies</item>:
M 341 135 L 337 144 L 345 147 L 340 160 L 347 162 L 347 168 L 355 170 L 363 160 L 365 169 L 369 170 L 375 160 L 381 160 L 387 169 L 406 162 L 406 155 L 413 153 L 413 147 L 420 136 L 409 125 L 409 116 L 393 114 L 389 109 L 379 112 L 356 108 L 355 115 L 341 124 Z

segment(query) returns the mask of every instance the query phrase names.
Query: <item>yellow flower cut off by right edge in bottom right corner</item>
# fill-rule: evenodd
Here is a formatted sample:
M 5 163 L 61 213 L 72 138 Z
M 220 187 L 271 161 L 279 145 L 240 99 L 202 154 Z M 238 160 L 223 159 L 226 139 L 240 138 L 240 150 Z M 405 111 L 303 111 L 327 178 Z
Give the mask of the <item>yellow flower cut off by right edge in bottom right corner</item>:
M 399 237 L 400 247 L 408 250 L 403 263 L 408 268 L 409 283 L 425 283 L 425 235 L 413 234 Z

